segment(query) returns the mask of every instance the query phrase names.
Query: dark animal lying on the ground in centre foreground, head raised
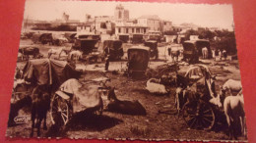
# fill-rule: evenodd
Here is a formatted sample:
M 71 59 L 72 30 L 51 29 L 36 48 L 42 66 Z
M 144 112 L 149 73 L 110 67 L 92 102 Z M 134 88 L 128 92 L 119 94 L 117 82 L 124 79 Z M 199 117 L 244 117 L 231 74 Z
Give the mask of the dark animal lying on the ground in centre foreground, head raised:
M 111 87 L 108 91 L 107 99 L 110 101 L 106 106 L 106 111 L 126 114 L 126 115 L 147 115 L 146 109 L 142 106 L 142 104 L 136 101 L 127 101 L 127 100 L 119 100 L 117 99 L 114 93 L 114 87 Z

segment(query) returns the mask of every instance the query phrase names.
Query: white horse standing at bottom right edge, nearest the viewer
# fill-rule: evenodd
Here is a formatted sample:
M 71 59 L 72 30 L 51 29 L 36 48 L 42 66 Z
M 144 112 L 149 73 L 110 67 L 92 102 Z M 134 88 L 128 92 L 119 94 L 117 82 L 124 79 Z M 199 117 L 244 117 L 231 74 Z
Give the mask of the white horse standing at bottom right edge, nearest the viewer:
M 229 139 L 237 139 L 237 126 L 240 125 L 241 135 L 245 136 L 245 113 L 242 90 L 236 96 L 224 99 L 224 115 L 228 124 Z

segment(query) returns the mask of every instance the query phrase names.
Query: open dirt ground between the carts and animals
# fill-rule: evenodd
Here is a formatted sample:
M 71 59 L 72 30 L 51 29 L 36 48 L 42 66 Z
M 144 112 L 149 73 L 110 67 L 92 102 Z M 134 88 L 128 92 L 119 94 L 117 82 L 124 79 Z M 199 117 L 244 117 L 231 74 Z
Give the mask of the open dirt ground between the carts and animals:
M 21 45 L 31 44 L 30 40 L 21 40 Z M 49 45 L 38 46 L 40 52 L 46 56 L 47 51 L 52 47 Z M 71 44 L 65 44 L 71 46 Z M 124 49 L 131 46 L 124 45 Z M 162 64 L 171 62 L 166 54 L 166 46 L 159 47 L 160 60 L 151 60 L 150 68 L 155 68 Z M 126 56 L 126 55 L 125 55 Z M 170 94 L 156 95 L 146 89 L 147 79 L 134 80 L 123 75 L 121 71 L 125 69 L 125 56 L 121 62 L 110 63 L 109 72 L 105 74 L 111 78 L 111 85 L 116 87 L 116 96 L 120 100 L 138 100 L 146 109 L 146 116 L 129 116 L 110 112 L 103 112 L 102 116 L 77 115 L 70 120 L 69 124 L 63 130 L 56 131 L 51 126 L 49 114 L 47 115 L 48 130 L 42 130 L 40 137 L 68 137 L 68 138 L 98 138 L 98 139 L 153 139 L 153 140 L 227 140 L 227 126 L 224 119 L 220 119 L 215 129 L 196 130 L 189 129 L 182 117 L 174 114 L 174 91 L 171 87 Z M 179 58 L 181 59 L 181 57 Z M 217 75 L 216 89 L 220 90 L 220 85 L 228 78 L 240 79 L 238 61 L 214 61 L 201 60 L 207 65 L 213 74 Z M 26 62 L 18 62 L 17 67 L 23 68 Z M 102 76 L 104 69 L 103 63 L 93 65 L 77 64 L 78 69 L 85 71 L 83 79 L 94 79 Z M 180 71 L 186 71 L 188 66 L 181 66 Z M 159 114 L 159 111 L 173 111 L 170 114 Z M 30 116 L 30 112 L 21 110 L 19 116 Z M 35 130 L 35 129 L 34 129 Z M 18 124 L 8 127 L 6 136 L 29 137 L 31 133 L 31 120 L 28 123 Z M 35 133 L 34 133 L 35 134 Z M 239 137 L 239 140 L 245 138 Z

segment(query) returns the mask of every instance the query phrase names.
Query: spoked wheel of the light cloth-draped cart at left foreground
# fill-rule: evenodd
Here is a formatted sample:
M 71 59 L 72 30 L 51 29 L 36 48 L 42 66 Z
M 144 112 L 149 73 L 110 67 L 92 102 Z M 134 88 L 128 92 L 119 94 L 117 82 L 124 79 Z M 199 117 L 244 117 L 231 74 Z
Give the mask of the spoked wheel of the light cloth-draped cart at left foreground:
M 52 124 L 66 125 L 72 116 L 72 110 L 67 100 L 55 94 L 50 105 L 50 118 Z

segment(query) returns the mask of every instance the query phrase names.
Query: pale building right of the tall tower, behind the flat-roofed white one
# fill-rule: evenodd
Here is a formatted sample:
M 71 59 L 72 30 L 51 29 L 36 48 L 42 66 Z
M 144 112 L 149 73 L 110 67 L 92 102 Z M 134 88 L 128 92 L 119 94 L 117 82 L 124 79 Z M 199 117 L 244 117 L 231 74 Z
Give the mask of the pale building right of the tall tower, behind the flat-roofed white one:
M 157 15 L 142 16 L 138 18 L 137 21 L 138 21 L 138 24 L 140 25 L 148 26 L 149 30 L 153 30 L 153 31 L 161 30 L 160 18 Z

